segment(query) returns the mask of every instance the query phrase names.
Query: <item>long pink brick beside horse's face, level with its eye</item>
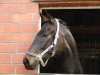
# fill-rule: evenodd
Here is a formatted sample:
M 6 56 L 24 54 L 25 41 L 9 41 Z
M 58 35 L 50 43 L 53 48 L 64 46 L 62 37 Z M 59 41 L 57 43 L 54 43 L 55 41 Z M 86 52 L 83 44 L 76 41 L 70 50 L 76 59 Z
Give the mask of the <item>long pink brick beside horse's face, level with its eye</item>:
M 33 34 L 29 33 L 16 33 L 13 35 L 12 42 L 26 43 L 32 42 Z

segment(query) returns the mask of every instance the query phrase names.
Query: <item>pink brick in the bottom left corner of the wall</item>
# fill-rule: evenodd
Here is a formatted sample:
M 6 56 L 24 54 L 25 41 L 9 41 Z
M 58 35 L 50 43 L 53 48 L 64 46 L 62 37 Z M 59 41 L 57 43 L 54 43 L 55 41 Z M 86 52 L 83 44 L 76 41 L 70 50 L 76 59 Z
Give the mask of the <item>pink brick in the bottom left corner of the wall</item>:
M 13 64 L 0 64 L 0 74 L 14 74 L 15 67 Z

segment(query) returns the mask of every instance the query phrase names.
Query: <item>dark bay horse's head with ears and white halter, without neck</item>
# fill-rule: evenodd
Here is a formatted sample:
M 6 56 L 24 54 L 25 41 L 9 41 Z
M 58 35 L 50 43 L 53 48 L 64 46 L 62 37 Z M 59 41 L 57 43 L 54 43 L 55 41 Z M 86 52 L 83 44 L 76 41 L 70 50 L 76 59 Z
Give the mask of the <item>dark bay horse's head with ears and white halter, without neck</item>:
M 26 69 L 33 70 L 39 64 L 46 66 L 49 58 L 57 53 L 56 45 L 59 41 L 59 22 L 48 13 L 41 15 L 42 28 L 37 33 L 31 47 L 24 57 L 23 63 Z

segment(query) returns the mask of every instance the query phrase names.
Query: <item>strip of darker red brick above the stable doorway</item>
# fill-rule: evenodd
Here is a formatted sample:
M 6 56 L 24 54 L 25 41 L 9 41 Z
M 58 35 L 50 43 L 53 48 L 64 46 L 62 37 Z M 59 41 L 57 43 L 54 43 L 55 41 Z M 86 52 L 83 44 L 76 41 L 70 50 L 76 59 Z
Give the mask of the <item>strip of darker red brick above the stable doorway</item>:
M 33 0 L 40 7 L 87 7 L 100 6 L 100 0 Z

